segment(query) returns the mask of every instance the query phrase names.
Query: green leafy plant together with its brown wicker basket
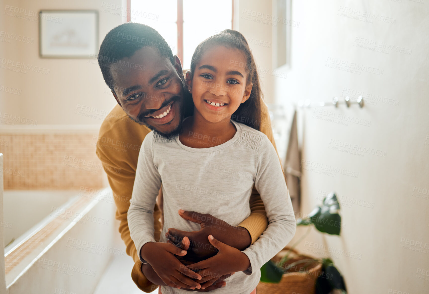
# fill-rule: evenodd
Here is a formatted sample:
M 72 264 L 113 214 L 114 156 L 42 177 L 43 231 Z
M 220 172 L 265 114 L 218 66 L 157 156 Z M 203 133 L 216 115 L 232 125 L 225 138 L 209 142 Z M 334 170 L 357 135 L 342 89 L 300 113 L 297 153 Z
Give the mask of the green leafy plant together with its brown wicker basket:
M 296 245 L 308 235 L 311 226 L 322 233 L 340 235 L 339 210 L 337 196 L 331 192 L 307 218 L 298 219 L 296 225 L 309 226 L 307 232 L 293 246 L 286 247 L 262 266 L 258 291 L 262 294 L 328 294 L 337 289 L 343 294 L 347 293 L 344 279 L 330 258 L 312 258 L 295 250 Z

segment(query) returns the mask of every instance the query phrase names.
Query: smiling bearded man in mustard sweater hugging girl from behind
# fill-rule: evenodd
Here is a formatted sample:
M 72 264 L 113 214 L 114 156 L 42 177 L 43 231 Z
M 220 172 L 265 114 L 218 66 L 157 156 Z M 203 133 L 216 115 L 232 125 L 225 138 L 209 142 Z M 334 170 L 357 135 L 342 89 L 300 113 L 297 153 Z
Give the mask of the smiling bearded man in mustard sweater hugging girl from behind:
M 182 120 L 192 114 L 193 109 L 187 103 L 192 98 L 184 91 L 179 58 L 173 56 L 163 37 L 151 27 L 137 23 L 115 27 L 104 38 L 98 60 L 103 78 L 118 105 L 100 128 L 97 156 L 103 162 L 113 191 L 116 219 L 121 221 L 119 232 L 127 246 L 126 252 L 135 262 L 131 276 L 142 291 L 151 292 L 157 285 L 165 284 L 150 264 L 140 262 L 127 224 L 139 148 L 151 130 L 166 138 L 178 135 Z M 275 146 L 266 105 L 263 108 L 263 119 L 258 122 L 260 131 Z M 157 199 L 154 207 L 154 237 L 158 241 L 162 228 L 161 189 Z M 238 227 L 232 227 L 210 215 L 181 212 L 184 219 L 199 223 L 201 230 L 183 232 L 170 228 L 169 239 L 182 249 L 190 246 L 194 258 L 199 260 L 211 253 L 204 250 L 206 245 L 210 246 L 207 238 L 209 234 L 227 246 L 244 250 L 257 240 L 268 223 L 265 207 L 256 189 L 253 189 L 249 205 L 251 215 Z M 190 239 L 190 244 L 180 242 L 185 236 Z M 224 283 L 219 279 L 215 285 L 195 291 L 211 291 Z

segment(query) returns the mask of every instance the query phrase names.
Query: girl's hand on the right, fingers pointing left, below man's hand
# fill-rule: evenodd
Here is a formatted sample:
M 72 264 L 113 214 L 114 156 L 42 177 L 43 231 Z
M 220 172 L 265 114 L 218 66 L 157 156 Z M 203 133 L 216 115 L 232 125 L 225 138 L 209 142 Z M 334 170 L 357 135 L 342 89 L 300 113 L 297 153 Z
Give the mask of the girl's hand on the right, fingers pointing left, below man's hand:
M 191 270 L 199 270 L 198 273 L 202 276 L 199 281 L 201 289 L 212 285 L 221 276 L 247 270 L 250 267 L 249 258 L 239 249 L 228 246 L 211 235 L 208 235 L 208 241 L 219 250 L 218 254 L 188 266 Z

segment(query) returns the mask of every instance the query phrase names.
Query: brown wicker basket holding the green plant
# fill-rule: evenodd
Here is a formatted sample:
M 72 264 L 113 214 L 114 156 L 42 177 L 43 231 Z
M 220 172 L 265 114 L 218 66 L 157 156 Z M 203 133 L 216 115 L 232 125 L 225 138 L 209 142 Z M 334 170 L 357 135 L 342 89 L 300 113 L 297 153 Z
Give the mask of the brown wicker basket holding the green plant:
M 279 252 L 272 261 L 280 261 L 280 259 L 286 255 L 288 247 L 285 247 Z M 312 258 L 308 255 L 299 254 L 296 250 L 291 250 L 295 253 L 295 257 L 287 261 L 287 264 L 291 264 L 295 261 Z M 299 267 L 299 266 L 297 266 Z M 320 262 L 314 262 L 306 267 L 307 271 L 299 272 L 299 268 L 291 269 L 287 273 L 284 273 L 280 283 L 265 283 L 259 282 L 256 287 L 257 294 L 314 294 L 314 288 L 316 285 L 316 279 L 320 276 L 322 270 L 322 264 Z M 295 272 L 293 272 L 295 270 Z

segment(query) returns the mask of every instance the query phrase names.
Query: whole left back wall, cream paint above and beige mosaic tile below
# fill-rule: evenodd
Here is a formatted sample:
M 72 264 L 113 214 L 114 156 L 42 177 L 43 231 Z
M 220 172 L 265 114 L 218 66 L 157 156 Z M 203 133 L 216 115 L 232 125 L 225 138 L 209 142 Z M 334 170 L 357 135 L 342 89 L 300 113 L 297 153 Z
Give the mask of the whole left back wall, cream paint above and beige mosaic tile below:
M 115 99 L 97 59 L 39 57 L 37 15 L 43 9 L 97 10 L 100 45 L 126 18 L 125 1 L 3 0 L 1 7 L 1 64 L 23 62 L 45 73 L 2 67 L 0 152 L 7 168 L 5 189 L 106 186 L 95 144 Z

